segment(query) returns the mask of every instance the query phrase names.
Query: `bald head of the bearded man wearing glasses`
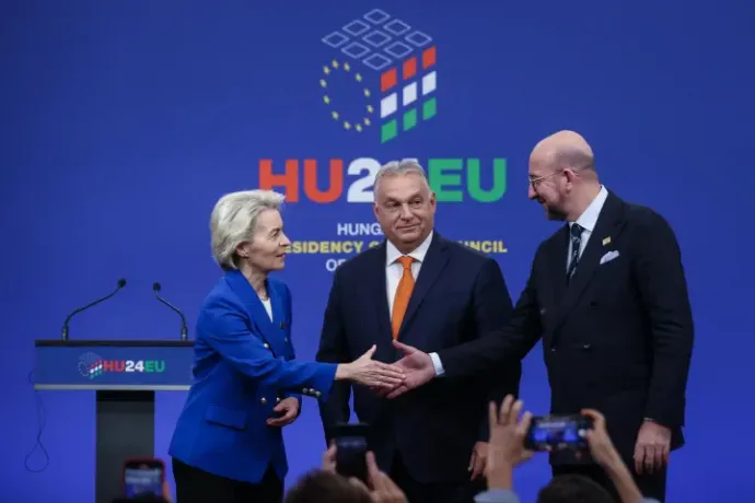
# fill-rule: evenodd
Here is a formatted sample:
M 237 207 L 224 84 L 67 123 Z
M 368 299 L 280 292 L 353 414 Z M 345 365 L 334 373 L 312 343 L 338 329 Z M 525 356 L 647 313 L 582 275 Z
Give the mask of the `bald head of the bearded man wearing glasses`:
M 573 131 L 537 143 L 528 176 L 527 196 L 543 204 L 549 220 L 577 220 L 600 190 L 592 149 Z

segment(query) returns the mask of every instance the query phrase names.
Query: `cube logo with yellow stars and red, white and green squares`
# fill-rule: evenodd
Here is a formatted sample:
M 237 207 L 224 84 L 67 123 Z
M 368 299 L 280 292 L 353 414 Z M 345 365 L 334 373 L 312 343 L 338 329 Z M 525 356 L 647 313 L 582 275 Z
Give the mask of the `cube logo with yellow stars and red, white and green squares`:
M 323 43 L 336 51 L 323 67 L 323 101 L 346 130 L 378 129 L 385 143 L 437 115 L 438 56 L 429 35 L 373 9 Z M 358 104 L 339 97 L 345 82 L 358 90 Z

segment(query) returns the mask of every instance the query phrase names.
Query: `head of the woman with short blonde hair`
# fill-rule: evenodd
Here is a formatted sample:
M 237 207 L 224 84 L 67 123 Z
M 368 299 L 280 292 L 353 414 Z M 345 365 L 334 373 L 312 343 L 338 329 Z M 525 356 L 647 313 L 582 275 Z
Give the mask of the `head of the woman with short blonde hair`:
M 271 190 L 244 190 L 221 197 L 210 217 L 212 255 L 224 270 L 267 273 L 280 270 L 291 242 L 283 234 L 284 197 Z

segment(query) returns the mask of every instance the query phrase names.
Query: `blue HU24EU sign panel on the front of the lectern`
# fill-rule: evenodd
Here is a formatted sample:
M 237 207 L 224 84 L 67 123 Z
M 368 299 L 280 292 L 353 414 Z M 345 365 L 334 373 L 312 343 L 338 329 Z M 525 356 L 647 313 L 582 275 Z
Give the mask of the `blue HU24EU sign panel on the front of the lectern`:
M 181 391 L 191 341 L 36 341 L 35 389 Z

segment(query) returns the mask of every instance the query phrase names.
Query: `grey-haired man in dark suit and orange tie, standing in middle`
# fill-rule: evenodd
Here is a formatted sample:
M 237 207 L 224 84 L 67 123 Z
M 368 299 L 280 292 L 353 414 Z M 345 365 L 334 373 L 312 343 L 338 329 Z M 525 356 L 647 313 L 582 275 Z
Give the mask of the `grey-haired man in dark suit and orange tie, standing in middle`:
M 416 161 L 390 163 L 374 184 L 374 213 L 387 237 L 335 272 L 316 360 L 395 362 L 392 340 L 440 351 L 509 321 L 512 303 L 498 264 L 433 232 L 435 197 Z M 371 429 L 378 464 L 413 503 L 472 503 L 485 489 L 487 403 L 516 395 L 521 364 L 487 375 L 438 381 L 397 400 L 353 386 L 355 410 Z M 321 403 L 326 438 L 348 422 L 350 385 Z

